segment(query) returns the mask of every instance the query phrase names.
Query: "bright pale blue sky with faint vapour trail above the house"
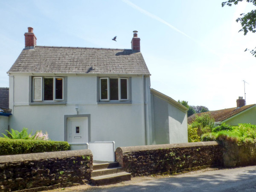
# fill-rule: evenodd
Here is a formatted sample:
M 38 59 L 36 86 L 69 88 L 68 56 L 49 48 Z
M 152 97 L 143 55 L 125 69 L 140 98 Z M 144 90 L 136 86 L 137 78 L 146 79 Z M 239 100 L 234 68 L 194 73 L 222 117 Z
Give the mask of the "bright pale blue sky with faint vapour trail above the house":
M 37 45 L 121 49 L 131 48 L 137 30 L 152 88 L 218 110 L 236 107 L 245 80 L 247 105 L 254 104 L 256 58 L 244 49 L 256 46 L 256 35 L 238 33 L 236 23 L 254 7 L 222 8 L 222 1 L 0 0 L 0 87 L 9 87 L 6 72 L 29 26 Z

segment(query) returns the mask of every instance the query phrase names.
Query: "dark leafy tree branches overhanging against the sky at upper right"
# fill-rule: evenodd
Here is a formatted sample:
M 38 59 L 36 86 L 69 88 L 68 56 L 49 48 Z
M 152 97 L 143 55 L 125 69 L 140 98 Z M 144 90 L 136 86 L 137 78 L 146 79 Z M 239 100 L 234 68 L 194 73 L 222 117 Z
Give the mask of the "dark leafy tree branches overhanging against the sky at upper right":
M 232 6 L 237 5 L 239 2 L 244 1 L 244 0 L 228 0 L 225 2 L 221 3 L 221 6 L 224 7 L 225 5 L 227 6 Z M 245 0 L 247 3 L 253 3 L 254 6 L 256 6 L 256 0 Z M 256 9 L 253 9 L 252 11 L 248 12 L 247 14 L 241 13 L 241 17 L 238 17 L 236 19 L 236 22 L 240 22 L 242 29 L 239 30 L 239 32 L 244 32 L 244 35 L 247 34 L 247 32 L 256 32 Z M 256 47 L 255 47 L 256 49 Z M 244 51 L 247 51 L 250 49 L 245 49 Z M 252 49 L 250 50 L 250 53 L 256 57 L 256 50 Z

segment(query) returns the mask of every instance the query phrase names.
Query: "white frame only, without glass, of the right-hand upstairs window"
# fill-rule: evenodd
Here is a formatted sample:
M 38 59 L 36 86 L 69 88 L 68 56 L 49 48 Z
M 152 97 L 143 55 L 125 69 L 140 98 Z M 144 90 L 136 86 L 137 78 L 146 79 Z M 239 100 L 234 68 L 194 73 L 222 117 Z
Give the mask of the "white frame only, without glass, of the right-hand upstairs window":
M 118 79 L 118 100 L 110 100 L 110 82 L 109 79 Z M 101 99 L 101 79 L 107 79 L 108 99 Z M 121 99 L 121 79 L 126 79 L 127 83 L 127 99 Z M 99 101 L 129 101 L 129 78 L 128 77 L 100 77 L 99 78 Z

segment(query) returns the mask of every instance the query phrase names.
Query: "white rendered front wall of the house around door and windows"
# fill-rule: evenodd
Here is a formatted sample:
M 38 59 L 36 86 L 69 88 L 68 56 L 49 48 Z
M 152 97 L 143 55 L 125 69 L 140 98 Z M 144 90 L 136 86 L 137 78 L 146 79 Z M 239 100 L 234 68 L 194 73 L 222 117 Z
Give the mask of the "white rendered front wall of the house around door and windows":
M 90 142 L 115 141 L 116 147 L 145 145 L 142 78 L 131 78 L 131 104 L 98 104 L 96 76 L 68 76 L 66 105 L 29 105 L 29 76 L 15 76 L 10 128 L 47 131 L 51 140 L 64 140 L 64 115 L 90 114 Z M 12 96 L 10 96 L 12 98 Z M 10 106 L 13 105 L 10 99 Z

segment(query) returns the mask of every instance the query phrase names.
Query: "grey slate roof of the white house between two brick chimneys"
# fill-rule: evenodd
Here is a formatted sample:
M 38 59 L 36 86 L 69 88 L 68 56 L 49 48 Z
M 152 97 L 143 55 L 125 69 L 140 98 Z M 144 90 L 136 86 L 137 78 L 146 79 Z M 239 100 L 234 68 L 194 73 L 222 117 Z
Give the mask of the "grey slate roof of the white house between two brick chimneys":
M 141 52 L 131 49 L 47 46 L 23 49 L 7 73 L 150 75 Z

